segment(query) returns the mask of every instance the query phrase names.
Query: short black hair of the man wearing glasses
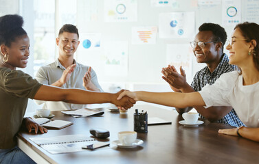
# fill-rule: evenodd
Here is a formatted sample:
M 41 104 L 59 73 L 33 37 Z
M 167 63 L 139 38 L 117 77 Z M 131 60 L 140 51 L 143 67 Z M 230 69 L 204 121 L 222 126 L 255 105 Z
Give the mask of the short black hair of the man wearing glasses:
M 214 36 L 214 41 L 222 42 L 223 46 L 227 41 L 227 33 L 223 27 L 215 23 L 203 23 L 199 27 L 199 31 L 212 31 Z M 222 49 L 223 51 L 223 49 Z

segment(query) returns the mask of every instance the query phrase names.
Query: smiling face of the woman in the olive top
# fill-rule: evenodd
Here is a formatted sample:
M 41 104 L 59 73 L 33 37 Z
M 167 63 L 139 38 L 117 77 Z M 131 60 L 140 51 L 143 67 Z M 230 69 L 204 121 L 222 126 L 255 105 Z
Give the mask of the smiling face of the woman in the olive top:
M 30 55 L 30 39 L 27 35 L 19 36 L 10 47 L 5 46 L 8 54 L 8 61 L 5 62 L 5 67 L 15 70 L 16 67 L 25 68 L 27 59 Z

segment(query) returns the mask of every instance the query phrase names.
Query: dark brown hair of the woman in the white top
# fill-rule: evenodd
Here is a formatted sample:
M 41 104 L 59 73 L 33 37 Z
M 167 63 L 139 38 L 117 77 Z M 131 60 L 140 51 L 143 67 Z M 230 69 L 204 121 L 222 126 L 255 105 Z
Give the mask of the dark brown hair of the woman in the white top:
M 234 29 L 237 28 L 240 29 L 242 35 L 247 39 L 247 42 L 250 42 L 251 40 L 256 40 L 253 61 L 256 68 L 259 70 L 259 25 L 256 23 L 244 22 L 236 25 Z

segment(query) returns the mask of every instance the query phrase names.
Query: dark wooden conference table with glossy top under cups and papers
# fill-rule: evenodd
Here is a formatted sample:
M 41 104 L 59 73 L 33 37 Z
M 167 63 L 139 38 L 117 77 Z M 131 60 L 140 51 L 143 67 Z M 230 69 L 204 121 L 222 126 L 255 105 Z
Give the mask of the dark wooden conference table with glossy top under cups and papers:
M 50 154 L 31 141 L 30 137 L 54 137 L 57 135 L 85 134 L 90 128 L 106 128 L 109 141 L 117 140 L 120 131 L 133 131 L 135 109 L 148 111 L 148 117 L 171 120 L 172 124 L 148 126 L 148 133 L 138 133 L 144 143 L 136 148 L 110 147 L 74 152 Z M 43 135 L 21 132 L 19 147 L 30 154 L 37 163 L 259 163 L 259 143 L 218 134 L 219 128 L 231 128 L 225 124 L 205 122 L 196 127 L 179 124 L 183 120 L 176 111 L 151 105 L 135 105 L 127 115 L 104 109 L 104 115 L 90 118 L 73 118 L 53 111 L 56 120 L 69 120 L 73 125 L 61 130 L 49 130 Z M 101 140 L 100 140 L 101 141 Z

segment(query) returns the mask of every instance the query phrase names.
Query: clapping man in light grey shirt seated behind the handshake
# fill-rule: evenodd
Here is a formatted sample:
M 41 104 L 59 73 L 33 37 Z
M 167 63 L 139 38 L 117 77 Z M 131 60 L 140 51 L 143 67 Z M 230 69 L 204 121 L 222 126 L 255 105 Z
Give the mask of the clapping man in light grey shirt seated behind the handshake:
M 81 88 L 103 92 L 94 70 L 89 66 L 79 64 L 74 59 L 74 53 L 79 42 L 78 29 L 74 25 L 63 25 L 56 38 L 58 45 L 58 59 L 52 64 L 42 66 L 37 74 L 36 80 L 45 85 L 54 85 L 64 88 Z M 52 111 L 80 109 L 86 105 L 76 105 L 65 102 L 50 102 L 35 100 L 36 104 L 44 103 L 43 108 Z

